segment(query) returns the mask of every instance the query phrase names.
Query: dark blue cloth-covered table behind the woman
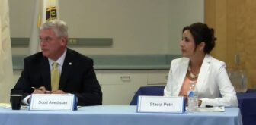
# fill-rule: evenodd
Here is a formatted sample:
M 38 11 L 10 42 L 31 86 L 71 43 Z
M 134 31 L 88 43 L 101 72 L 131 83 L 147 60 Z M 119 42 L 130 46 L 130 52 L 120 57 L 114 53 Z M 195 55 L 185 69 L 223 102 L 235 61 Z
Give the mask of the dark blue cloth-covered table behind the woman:
M 138 89 L 130 102 L 130 105 L 137 104 L 137 97 L 139 95 L 159 95 L 164 93 L 165 86 L 142 86 Z M 248 89 L 246 93 L 237 93 L 239 108 L 242 114 L 244 125 L 256 124 L 256 90 Z

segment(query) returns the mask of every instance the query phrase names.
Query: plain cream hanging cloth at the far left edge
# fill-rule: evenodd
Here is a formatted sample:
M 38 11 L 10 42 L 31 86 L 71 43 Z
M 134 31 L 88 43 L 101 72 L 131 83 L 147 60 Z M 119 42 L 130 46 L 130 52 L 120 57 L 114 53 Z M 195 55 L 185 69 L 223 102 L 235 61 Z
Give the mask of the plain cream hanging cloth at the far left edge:
M 10 90 L 14 86 L 8 0 L 0 1 L 0 102 L 10 102 Z

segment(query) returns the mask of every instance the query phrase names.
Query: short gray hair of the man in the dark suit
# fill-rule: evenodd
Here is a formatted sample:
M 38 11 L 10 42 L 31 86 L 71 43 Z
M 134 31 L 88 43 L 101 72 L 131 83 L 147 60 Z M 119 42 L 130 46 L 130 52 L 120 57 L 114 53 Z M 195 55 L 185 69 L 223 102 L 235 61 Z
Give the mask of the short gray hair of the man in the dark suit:
M 46 23 L 43 23 L 40 27 L 41 30 L 47 30 L 47 29 L 52 29 L 54 33 L 56 33 L 56 36 L 66 36 L 68 38 L 68 26 L 66 22 L 62 20 L 50 20 L 47 21 Z

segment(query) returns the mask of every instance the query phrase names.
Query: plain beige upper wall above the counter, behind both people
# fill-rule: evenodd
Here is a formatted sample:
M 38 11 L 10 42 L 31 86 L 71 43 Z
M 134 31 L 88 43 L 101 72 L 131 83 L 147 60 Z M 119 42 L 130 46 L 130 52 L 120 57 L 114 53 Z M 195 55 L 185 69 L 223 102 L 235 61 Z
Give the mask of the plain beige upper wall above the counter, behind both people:
M 179 54 L 182 27 L 203 21 L 203 0 L 59 0 L 69 37 L 113 38 L 84 54 Z M 11 37 L 30 37 L 34 0 L 9 0 Z M 13 48 L 27 54 L 27 48 Z

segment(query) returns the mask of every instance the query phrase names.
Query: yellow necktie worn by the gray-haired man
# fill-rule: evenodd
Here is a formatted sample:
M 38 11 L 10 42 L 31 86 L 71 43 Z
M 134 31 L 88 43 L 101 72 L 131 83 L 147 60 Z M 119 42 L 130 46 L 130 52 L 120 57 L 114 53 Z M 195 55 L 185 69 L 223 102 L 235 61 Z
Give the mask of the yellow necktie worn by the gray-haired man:
M 56 61 L 54 61 L 52 64 L 51 86 L 52 86 L 52 91 L 56 91 L 59 89 L 59 70 L 58 70 L 58 63 Z

